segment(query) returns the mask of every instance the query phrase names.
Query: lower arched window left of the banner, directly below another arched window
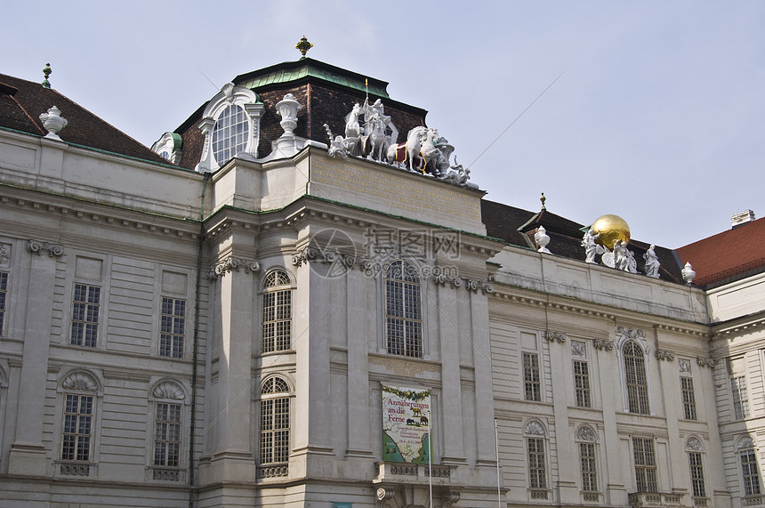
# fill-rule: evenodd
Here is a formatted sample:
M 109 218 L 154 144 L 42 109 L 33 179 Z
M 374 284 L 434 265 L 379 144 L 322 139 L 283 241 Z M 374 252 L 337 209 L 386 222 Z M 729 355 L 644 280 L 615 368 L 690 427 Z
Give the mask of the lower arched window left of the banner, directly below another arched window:
M 289 385 L 281 377 L 270 377 L 262 384 L 260 423 L 258 464 L 289 462 Z M 286 465 L 259 476 L 286 476 Z

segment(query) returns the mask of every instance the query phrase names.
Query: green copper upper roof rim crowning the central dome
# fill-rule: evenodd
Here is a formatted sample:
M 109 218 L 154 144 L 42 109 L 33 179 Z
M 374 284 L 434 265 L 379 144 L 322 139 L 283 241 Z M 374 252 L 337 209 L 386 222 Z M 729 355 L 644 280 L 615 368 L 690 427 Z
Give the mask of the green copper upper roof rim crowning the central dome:
M 266 69 L 243 74 L 236 78 L 235 83 L 238 86 L 257 90 L 262 86 L 291 83 L 303 77 L 315 77 L 335 85 L 354 88 L 361 92 L 368 90 L 373 95 L 390 99 L 388 92 L 385 90 L 388 84 L 384 81 L 365 77 L 350 70 L 334 67 L 323 61 L 310 58 L 284 62 Z M 368 87 L 365 82 L 368 83 Z

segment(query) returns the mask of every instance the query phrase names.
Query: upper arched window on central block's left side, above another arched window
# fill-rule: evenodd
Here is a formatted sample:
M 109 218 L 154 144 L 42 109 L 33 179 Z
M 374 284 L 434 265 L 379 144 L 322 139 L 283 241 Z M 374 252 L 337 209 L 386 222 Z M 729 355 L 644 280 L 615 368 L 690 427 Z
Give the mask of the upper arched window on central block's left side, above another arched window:
M 262 352 L 290 349 L 292 289 L 285 270 L 273 270 L 263 283 Z

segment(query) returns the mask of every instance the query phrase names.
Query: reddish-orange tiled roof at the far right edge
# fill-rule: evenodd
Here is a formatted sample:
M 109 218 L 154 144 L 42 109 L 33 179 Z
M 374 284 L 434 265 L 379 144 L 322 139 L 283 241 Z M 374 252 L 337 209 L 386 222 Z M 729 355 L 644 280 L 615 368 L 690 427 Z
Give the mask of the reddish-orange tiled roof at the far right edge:
M 765 270 L 765 219 L 746 222 L 732 230 L 677 249 L 683 264 L 696 271 L 694 284 L 708 286 Z

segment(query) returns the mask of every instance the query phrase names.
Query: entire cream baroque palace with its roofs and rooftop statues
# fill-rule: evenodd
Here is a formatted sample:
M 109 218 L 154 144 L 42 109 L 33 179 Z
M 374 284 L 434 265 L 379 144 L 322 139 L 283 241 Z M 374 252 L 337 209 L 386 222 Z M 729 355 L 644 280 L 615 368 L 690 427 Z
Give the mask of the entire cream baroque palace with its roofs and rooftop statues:
M 588 240 L 386 85 L 285 62 L 148 149 L 0 75 L 0 506 L 765 505 L 763 220 Z

